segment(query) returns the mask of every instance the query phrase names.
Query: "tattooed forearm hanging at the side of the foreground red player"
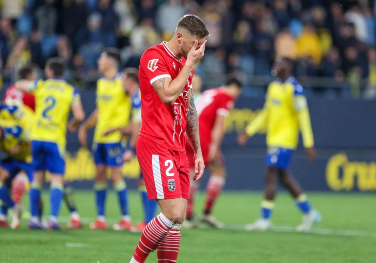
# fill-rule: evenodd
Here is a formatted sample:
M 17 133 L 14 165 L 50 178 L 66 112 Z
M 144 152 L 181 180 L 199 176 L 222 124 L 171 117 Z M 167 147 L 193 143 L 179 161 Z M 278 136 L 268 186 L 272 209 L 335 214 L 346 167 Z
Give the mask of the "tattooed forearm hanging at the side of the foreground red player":
M 193 149 L 200 150 L 200 134 L 199 134 L 199 117 L 197 115 L 196 106 L 193 100 L 192 89 L 189 91 L 190 100 L 187 103 L 187 126 L 186 134 L 191 142 Z

